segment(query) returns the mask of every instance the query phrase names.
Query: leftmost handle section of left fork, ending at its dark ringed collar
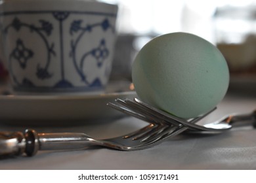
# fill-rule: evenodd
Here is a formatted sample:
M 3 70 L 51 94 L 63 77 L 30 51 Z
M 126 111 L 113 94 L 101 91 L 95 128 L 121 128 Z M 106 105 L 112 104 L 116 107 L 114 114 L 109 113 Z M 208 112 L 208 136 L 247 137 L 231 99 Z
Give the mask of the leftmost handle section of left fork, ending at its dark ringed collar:
M 33 156 L 39 150 L 37 132 L 33 129 L 26 129 L 25 133 L 20 131 L 0 132 L 0 158 L 5 156 Z

